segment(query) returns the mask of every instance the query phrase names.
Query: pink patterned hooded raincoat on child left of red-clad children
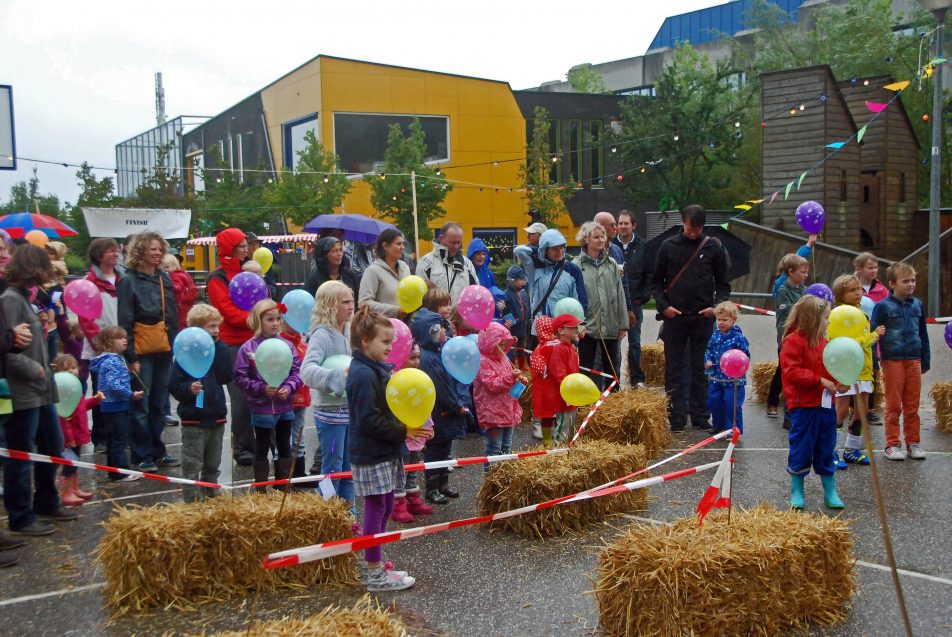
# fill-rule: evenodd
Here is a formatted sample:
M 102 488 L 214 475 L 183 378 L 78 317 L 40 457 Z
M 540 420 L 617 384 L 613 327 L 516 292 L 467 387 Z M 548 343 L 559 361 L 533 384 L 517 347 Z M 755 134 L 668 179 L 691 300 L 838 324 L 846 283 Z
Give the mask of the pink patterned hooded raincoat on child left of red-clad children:
M 515 427 L 522 421 L 519 401 L 509 395 L 516 383 L 506 353 L 515 339 L 499 323 L 490 323 L 479 333 L 479 373 L 473 383 L 473 399 L 479 426 Z

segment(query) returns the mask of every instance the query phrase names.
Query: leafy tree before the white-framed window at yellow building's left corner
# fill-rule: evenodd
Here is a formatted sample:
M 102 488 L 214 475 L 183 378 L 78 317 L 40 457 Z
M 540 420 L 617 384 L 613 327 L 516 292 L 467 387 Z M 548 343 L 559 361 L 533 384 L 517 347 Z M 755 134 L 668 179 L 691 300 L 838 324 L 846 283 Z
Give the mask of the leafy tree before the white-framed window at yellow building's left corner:
M 282 171 L 277 183 L 265 191 L 265 200 L 298 225 L 333 213 L 353 187 L 346 175 L 337 172 L 337 156 L 324 149 L 313 131 L 305 133 L 304 141 L 294 171 Z

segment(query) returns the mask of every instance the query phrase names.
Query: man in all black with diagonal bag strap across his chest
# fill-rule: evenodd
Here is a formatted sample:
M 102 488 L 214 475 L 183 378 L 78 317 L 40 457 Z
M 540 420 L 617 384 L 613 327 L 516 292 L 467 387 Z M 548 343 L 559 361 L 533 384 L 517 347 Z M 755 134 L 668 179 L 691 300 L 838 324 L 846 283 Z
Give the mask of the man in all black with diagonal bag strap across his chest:
M 672 431 L 682 431 L 687 423 L 681 367 L 685 359 L 691 372 L 691 424 L 708 428 L 704 350 L 714 329 L 713 308 L 731 294 L 727 253 L 719 241 L 704 235 L 706 220 L 704 208 L 685 206 L 681 210 L 684 230 L 661 244 L 651 275 L 651 292 L 664 319 L 664 389 Z

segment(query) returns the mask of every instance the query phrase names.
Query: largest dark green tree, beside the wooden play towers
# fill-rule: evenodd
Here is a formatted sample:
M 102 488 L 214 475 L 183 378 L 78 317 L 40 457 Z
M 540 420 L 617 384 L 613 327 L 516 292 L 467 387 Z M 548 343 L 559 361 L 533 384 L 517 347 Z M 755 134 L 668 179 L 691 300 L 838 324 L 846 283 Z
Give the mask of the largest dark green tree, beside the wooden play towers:
M 662 210 L 688 203 L 716 208 L 736 204 L 736 193 L 759 192 L 757 170 L 738 170 L 749 161 L 741 149 L 753 134 L 754 118 L 746 116 L 751 91 L 732 87 L 733 74 L 729 63 L 712 64 L 689 44 L 679 44 L 655 96 L 622 102 L 621 131 L 611 141 L 631 200 Z M 740 196 L 743 201 L 748 195 Z

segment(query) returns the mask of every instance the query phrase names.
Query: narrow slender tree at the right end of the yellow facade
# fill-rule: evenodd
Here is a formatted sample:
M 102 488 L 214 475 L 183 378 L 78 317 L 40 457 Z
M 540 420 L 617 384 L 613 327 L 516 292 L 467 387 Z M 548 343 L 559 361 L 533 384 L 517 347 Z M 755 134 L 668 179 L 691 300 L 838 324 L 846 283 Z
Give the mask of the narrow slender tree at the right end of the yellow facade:
M 565 211 L 565 201 L 575 191 L 552 180 L 552 160 L 558 156 L 549 147 L 549 112 L 536 106 L 532 115 L 532 139 L 526 147 L 526 163 L 519 166 L 519 181 L 526 192 L 532 221 L 554 226 Z

